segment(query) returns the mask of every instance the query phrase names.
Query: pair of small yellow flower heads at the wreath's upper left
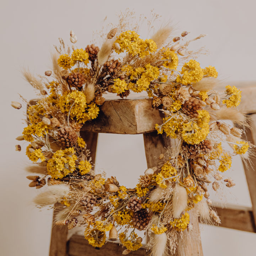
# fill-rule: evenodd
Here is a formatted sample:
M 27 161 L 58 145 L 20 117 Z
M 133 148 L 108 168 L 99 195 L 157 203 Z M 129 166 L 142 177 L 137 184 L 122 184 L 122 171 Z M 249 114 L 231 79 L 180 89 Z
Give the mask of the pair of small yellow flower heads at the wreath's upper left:
M 77 62 L 81 62 L 84 64 L 89 63 L 88 57 L 89 55 L 84 49 L 75 49 L 71 54 L 71 57 L 69 57 L 68 54 L 60 55 L 58 59 L 58 65 L 61 68 L 68 70 L 71 68 L 71 66 L 74 66 Z

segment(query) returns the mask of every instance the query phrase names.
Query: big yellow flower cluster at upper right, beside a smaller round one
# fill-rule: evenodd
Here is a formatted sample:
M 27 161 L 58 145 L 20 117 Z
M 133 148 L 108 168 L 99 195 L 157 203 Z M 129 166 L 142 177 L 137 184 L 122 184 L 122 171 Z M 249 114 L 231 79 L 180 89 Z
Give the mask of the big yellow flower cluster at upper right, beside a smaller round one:
M 199 62 L 190 60 L 183 65 L 181 74 L 182 77 L 178 75 L 176 81 L 183 85 L 188 85 L 200 81 L 203 78 L 204 72 L 203 69 L 201 69 Z

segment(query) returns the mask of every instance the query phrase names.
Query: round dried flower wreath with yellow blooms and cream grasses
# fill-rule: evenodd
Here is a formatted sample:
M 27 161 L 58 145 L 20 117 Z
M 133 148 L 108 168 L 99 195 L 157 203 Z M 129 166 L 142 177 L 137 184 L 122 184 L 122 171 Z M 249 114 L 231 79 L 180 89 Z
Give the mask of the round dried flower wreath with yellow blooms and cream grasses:
M 186 40 L 185 31 L 173 38 L 172 28 L 166 26 L 151 39 L 142 39 L 123 28 L 120 22 L 100 48 L 91 44 L 85 49 L 76 47 L 71 31 L 72 47 L 62 39 L 55 47 L 53 72 L 39 78 L 23 72 L 39 99 L 34 105 L 25 101 L 28 126 L 17 140 L 30 142 L 26 155 L 36 164 L 29 169 L 41 174 L 27 176 L 30 187 L 44 187 L 34 199 L 36 205 L 64 206 L 56 225 L 84 226 L 85 239 L 95 247 L 105 244 L 109 232 L 109 240 L 119 238 L 127 248 L 125 254 L 142 246 L 136 229 L 146 230 L 152 254 L 161 255 L 159 250 L 163 253 L 166 246 L 175 251 L 175 236 L 190 226 L 190 209 L 196 209 L 203 222 L 220 223 L 207 186 L 212 183 L 217 191 L 222 185 L 235 185 L 224 172 L 230 169 L 232 156 L 248 157 L 249 143 L 241 139 L 238 128 L 247 123 L 236 108 L 241 92 L 227 85 L 220 95 L 214 90 L 219 84 L 216 69 L 202 69 L 192 59 L 200 50 L 187 50 L 190 42 L 204 35 Z M 106 91 L 121 98 L 130 91 L 146 91 L 152 107 L 165 113 L 155 129 L 179 142 L 175 152 L 167 149 L 156 156 L 162 162 L 147 169 L 132 190 L 120 186 L 115 177 L 95 175 L 90 151 L 79 135 L 85 122 L 97 118 Z M 12 106 L 21 108 L 18 102 Z M 159 238 L 164 246 L 153 248 L 159 246 Z

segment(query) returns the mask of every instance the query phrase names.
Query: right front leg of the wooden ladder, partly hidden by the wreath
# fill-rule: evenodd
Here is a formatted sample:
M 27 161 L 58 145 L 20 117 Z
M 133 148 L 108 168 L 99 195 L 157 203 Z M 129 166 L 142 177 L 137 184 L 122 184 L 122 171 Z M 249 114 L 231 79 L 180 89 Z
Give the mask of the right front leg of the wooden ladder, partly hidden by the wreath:
M 174 143 L 171 140 L 157 135 L 156 132 L 145 133 L 144 145 L 148 167 L 153 167 L 159 163 L 159 156 L 165 151 L 165 145 L 171 146 Z M 168 145 L 167 145 L 168 144 Z M 170 144 L 170 145 L 169 145 Z M 175 145 L 174 145 L 175 146 Z M 196 212 L 190 210 L 190 223 L 193 229 L 188 233 L 187 230 L 182 232 L 182 237 L 178 235 L 178 245 L 175 252 L 176 256 L 203 256 L 202 244 L 200 239 L 199 222 Z

